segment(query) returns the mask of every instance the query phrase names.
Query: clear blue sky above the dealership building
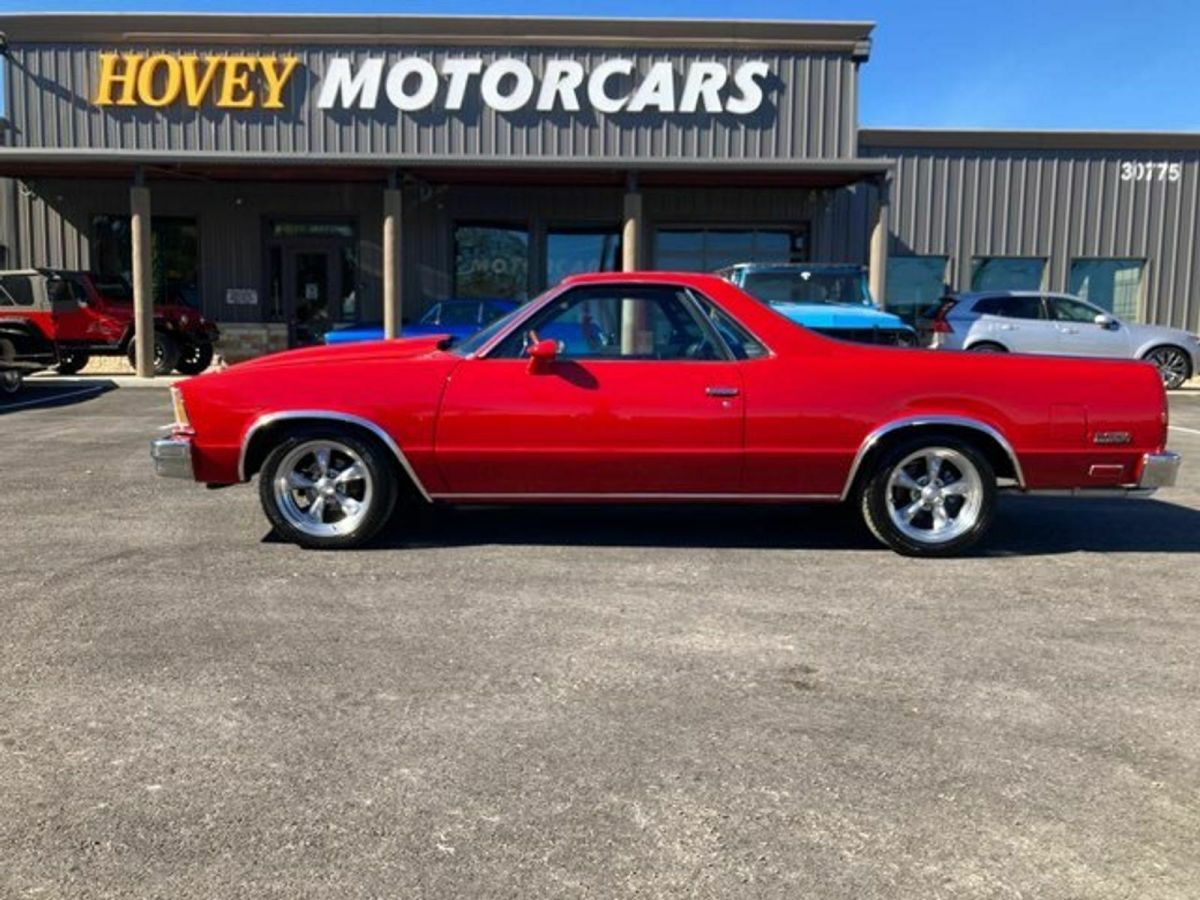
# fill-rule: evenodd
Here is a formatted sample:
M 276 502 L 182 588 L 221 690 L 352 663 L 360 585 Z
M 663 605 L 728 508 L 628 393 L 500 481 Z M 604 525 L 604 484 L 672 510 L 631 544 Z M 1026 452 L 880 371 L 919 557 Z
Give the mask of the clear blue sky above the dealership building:
M 30 10 L 0 0 L 0 12 Z M 1200 131 L 1195 0 L 120 0 L 36 11 L 408 12 L 672 16 L 877 23 L 863 71 L 866 126 Z

